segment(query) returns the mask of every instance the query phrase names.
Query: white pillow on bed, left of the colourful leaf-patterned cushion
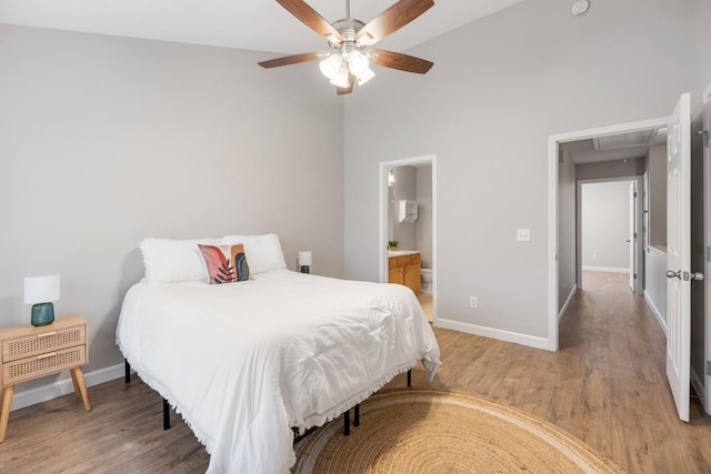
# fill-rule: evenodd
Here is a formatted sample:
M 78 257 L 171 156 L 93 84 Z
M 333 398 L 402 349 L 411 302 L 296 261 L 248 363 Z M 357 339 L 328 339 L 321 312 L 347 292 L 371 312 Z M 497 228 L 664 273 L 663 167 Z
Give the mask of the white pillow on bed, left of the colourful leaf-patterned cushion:
M 141 242 L 149 283 L 208 282 L 208 268 L 198 244 L 218 245 L 214 239 L 144 239 Z

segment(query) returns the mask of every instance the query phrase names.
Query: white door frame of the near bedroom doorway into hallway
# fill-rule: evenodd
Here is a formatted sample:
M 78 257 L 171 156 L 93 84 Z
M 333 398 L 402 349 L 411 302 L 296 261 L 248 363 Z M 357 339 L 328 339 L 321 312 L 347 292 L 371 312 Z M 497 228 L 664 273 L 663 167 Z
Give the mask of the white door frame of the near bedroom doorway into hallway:
M 649 129 L 661 129 L 669 123 L 669 117 L 641 120 L 637 122 L 618 123 L 594 129 L 577 130 L 557 133 L 548 137 L 548 350 L 558 351 L 558 159 L 560 143 L 588 140 L 594 137 L 612 135 L 625 132 L 638 132 Z

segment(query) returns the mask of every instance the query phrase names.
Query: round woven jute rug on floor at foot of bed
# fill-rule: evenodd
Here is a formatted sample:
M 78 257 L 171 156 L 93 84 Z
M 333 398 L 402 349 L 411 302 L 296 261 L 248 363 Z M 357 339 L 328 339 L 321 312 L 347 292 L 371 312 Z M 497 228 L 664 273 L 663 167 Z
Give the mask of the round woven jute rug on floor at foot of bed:
M 361 404 L 343 435 L 336 420 L 299 442 L 294 474 L 622 473 L 557 426 L 462 392 L 397 389 Z

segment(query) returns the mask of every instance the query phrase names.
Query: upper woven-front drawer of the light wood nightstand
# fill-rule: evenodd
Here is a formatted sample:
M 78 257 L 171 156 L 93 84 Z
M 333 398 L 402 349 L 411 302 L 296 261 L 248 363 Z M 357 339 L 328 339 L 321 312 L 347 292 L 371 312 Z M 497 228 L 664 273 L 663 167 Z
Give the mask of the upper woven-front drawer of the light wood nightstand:
M 31 355 L 46 354 L 66 347 L 84 344 L 86 326 L 74 326 L 2 341 L 2 362 L 8 363 Z

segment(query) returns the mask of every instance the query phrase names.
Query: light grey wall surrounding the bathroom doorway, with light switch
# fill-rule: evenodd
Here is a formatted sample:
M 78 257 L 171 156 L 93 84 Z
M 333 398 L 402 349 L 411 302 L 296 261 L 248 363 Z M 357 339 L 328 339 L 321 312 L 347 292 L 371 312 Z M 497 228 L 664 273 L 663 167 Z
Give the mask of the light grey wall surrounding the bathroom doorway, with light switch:
M 378 163 L 437 153 L 440 321 L 547 344 L 548 137 L 668 115 L 690 88 L 687 2 L 569 8 L 519 3 L 410 50 L 427 75 L 378 69 L 347 99 L 347 276 L 378 279 Z

